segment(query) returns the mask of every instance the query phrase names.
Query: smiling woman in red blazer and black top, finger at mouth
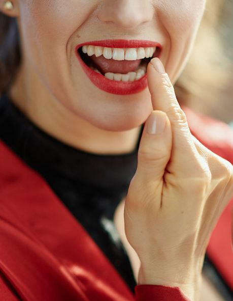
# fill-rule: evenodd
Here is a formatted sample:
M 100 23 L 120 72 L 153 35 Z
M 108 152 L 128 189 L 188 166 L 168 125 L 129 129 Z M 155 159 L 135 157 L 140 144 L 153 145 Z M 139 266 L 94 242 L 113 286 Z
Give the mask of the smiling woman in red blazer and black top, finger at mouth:
M 172 85 L 205 1 L 0 3 L 21 43 L 1 99 L 1 299 L 196 300 L 233 197 Z

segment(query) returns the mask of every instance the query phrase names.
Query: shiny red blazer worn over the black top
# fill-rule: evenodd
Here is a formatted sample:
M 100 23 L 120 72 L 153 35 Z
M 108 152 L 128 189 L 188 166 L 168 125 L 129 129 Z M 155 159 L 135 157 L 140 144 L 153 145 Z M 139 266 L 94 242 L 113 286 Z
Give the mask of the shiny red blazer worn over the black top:
M 186 113 L 192 133 L 233 162 L 233 132 L 206 116 Z M 207 253 L 233 288 L 231 200 Z M 179 288 L 137 285 L 131 293 L 118 271 L 40 174 L 0 141 L 0 300 L 181 301 Z

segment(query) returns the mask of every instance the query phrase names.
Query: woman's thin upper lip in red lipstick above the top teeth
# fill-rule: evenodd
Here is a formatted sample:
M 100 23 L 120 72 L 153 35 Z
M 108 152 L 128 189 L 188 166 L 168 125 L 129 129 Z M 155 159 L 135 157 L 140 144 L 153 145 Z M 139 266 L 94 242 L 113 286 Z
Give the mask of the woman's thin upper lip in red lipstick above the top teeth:
M 76 46 L 76 49 L 83 45 L 103 46 L 111 48 L 138 48 L 138 47 L 159 47 L 162 49 L 162 45 L 155 41 L 149 40 L 99 40 L 89 41 Z

